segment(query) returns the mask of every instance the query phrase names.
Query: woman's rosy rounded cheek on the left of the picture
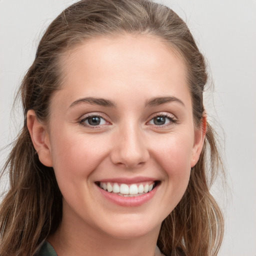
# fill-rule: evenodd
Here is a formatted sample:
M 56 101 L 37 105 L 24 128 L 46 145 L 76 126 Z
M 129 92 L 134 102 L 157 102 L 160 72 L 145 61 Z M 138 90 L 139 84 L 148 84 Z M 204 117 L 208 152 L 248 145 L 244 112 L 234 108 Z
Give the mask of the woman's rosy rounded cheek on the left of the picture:
M 52 141 L 52 161 L 58 181 L 75 182 L 88 176 L 107 154 L 99 136 L 56 134 Z

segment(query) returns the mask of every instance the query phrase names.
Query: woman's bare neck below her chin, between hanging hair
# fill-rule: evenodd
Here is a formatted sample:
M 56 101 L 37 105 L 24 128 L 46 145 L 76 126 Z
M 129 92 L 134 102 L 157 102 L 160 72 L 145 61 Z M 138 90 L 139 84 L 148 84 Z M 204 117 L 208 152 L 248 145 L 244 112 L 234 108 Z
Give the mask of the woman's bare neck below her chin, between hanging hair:
M 114 237 L 64 214 L 57 231 L 48 237 L 58 256 L 154 256 L 160 225 L 138 237 Z

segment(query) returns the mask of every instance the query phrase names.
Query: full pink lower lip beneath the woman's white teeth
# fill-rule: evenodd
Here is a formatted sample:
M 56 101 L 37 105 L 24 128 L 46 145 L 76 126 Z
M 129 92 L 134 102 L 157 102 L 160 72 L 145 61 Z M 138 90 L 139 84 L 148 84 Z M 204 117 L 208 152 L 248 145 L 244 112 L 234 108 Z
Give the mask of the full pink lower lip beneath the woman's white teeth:
M 96 185 L 97 186 L 97 185 Z M 138 196 L 122 196 L 105 191 L 97 186 L 99 192 L 109 201 L 118 204 L 120 206 L 132 207 L 140 206 L 143 203 L 149 201 L 155 194 L 158 186 L 155 186 L 150 192 L 138 195 Z

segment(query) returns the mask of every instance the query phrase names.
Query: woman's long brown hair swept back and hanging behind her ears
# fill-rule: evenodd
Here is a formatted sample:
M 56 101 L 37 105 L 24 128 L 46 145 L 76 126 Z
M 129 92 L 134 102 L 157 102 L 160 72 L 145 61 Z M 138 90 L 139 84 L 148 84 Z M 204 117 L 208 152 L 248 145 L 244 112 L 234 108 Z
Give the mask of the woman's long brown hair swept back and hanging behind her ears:
M 4 165 L 10 188 L 0 204 L 0 255 L 29 255 L 54 233 L 62 216 L 62 196 L 52 167 L 38 159 L 26 127 L 33 109 L 47 122 L 52 94 L 61 85 L 59 56 L 97 36 L 150 34 L 179 54 L 187 68 L 195 125 L 204 112 L 207 81 L 203 55 L 185 22 L 168 7 L 150 0 L 81 0 L 62 11 L 41 38 L 35 59 L 20 86 L 24 125 Z M 221 161 L 207 124 L 200 158 L 191 170 L 178 205 L 163 220 L 157 245 L 165 255 L 216 255 L 223 235 L 221 211 L 209 192 Z M 207 156 L 207 157 L 206 157 Z

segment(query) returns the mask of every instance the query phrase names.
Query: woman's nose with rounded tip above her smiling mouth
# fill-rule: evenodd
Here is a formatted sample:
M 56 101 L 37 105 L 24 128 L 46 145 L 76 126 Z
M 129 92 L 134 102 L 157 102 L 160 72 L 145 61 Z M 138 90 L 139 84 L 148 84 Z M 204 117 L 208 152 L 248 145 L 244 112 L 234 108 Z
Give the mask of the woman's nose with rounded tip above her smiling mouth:
M 111 161 L 127 168 L 143 165 L 149 159 L 149 152 L 142 133 L 136 125 L 120 128 L 113 141 Z

